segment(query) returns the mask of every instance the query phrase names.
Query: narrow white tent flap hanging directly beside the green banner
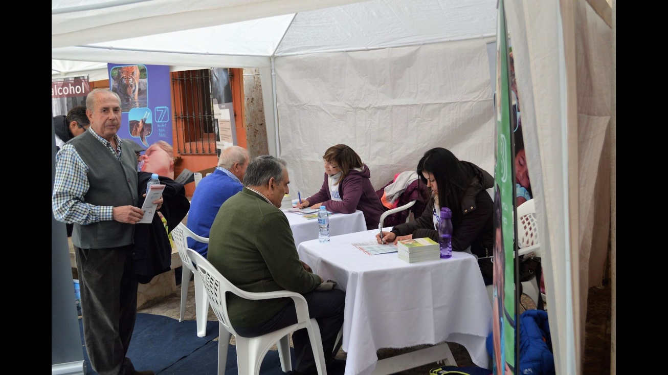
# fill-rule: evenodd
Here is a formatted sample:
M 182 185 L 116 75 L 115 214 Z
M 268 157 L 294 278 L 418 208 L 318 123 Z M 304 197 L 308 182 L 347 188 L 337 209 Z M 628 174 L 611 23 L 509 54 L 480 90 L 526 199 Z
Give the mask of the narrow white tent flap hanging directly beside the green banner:
M 562 43 L 558 1 L 508 1 L 506 19 L 515 75 L 522 101 L 522 132 L 531 187 L 536 199 L 542 269 L 550 334 L 557 374 L 566 371 L 568 350 L 574 353 L 568 267 L 568 196 L 566 119 L 563 107 Z M 555 47 L 556 46 L 556 47 Z M 539 163 L 536 163 L 538 160 Z M 547 218 L 550 217 L 548 221 Z M 570 340 L 568 331 L 571 330 Z M 570 356 L 571 363 L 572 355 Z

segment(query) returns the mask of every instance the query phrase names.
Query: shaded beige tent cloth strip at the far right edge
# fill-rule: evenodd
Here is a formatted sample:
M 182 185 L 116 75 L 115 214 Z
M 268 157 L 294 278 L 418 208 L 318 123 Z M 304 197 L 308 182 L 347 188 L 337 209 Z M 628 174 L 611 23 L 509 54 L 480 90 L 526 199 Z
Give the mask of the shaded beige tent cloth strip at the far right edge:
M 612 30 L 587 2 L 576 5 L 580 280 L 589 288 L 603 281 L 610 234 Z

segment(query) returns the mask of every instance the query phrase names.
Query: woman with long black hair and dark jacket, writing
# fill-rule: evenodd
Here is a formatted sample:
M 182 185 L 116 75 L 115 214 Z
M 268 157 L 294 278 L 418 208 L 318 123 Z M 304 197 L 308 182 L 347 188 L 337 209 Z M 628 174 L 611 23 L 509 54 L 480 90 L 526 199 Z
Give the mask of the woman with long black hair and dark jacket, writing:
M 382 232 L 382 238 L 376 235 L 378 243 L 422 237 L 438 242 L 441 207 L 448 207 L 452 211 L 452 250 L 476 255 L 485 284 L 490 285 L 494 205 L 486 189 L 494 186 L 494 177 L 442 147 L 425 152 L 418 162 L 417 172 L 432 193 L 428 207 L 421 217 L 396 225 L 390 232 Z

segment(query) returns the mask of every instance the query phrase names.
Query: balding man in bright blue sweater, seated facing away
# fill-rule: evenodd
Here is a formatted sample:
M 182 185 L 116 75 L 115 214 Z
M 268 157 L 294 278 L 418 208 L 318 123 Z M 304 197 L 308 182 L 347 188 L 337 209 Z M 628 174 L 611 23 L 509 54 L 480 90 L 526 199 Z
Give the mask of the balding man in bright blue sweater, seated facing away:
M 243 189 L 248 167 L 248 151 L 240 146 L 229 146 L 220 152 L 218 166 L 212 174 L 202 178 L 192 194 L 188 211 L 188 229 L 208 238 L 216 214 L 225 201 Z M 206 258 L 208 245 L 188 238 L 188 247 Z

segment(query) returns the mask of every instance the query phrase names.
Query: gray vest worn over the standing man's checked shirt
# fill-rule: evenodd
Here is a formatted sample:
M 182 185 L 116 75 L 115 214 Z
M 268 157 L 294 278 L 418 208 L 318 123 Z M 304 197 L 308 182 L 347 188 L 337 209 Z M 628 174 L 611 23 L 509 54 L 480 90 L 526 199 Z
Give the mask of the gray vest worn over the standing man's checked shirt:
M 128 142 L 121 143 L 121 160 L 90 132 L 67 142 L 88 166 L 90 188 L 83 197 L 96 206 L 136 206 L 137 156 Z M 72 243 L 81 249 L 106 249 L 134 243 L 134 225 L 115 220 L 74 224 Z

